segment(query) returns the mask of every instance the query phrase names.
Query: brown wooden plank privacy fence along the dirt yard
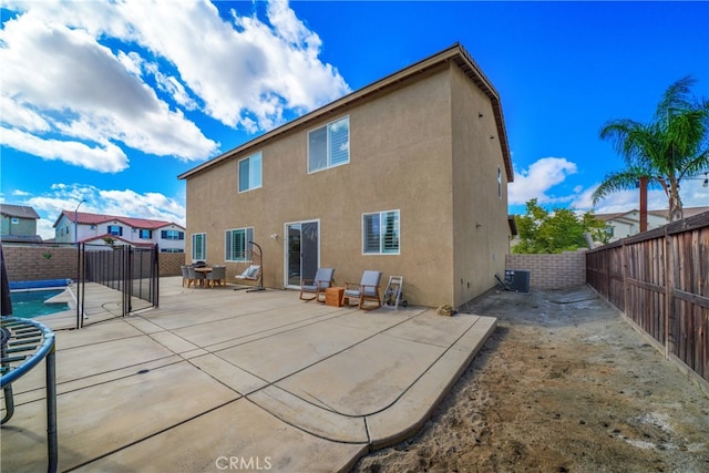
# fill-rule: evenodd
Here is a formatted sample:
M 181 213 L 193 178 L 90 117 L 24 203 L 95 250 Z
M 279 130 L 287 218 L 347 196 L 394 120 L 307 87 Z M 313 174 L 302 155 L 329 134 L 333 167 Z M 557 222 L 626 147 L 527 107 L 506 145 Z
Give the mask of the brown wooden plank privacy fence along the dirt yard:
M 709 213 L 586 254 L 586 281 L 709 381 Z

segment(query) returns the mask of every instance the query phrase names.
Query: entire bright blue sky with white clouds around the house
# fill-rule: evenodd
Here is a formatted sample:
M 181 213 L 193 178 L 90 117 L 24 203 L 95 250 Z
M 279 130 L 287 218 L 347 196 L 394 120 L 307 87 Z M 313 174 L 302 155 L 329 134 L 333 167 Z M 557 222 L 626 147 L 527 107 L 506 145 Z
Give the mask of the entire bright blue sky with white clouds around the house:
M 53 236 L 62 209 L 185 224 L 199 163 L 460 42 L 497 89 L 515 168 L 536 197 L 592 209 L 623 167 L 598 138 L 648 121 L 691 74 L 709 97 L 708 2 L 0 1 L 0 199 Z M 685 206 L 709 205 L 701 181 Z M 662 208 L 661 191 L 650 208 Z M 596 205 L 637 207 L 637 192 Z

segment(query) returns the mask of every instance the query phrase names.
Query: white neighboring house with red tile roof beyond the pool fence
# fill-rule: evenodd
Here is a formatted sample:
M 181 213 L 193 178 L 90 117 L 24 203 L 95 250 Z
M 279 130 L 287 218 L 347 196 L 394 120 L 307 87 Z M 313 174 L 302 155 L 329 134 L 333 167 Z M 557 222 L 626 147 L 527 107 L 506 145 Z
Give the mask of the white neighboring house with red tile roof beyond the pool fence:
M 74 213 L 63 210 L 54 222 L 55 243 L 85 243 L 145 247 L 157 244 L 162 253 L 184 253 L 185 227 L 164 220 L 120 217 L 115 215 L 89 214 L 79 212 L 74 225 Z M 76 230 L 76 233 L 74 233 Z

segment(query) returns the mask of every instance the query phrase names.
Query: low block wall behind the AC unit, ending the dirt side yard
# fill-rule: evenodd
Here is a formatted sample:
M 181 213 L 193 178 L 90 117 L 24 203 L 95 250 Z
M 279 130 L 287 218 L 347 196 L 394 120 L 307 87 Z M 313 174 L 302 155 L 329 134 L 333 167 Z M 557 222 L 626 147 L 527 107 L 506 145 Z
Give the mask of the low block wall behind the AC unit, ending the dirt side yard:
M 558 255 L 506 255 L 506 269 L 530 270 L 533 289 L 563 289 L 586 284 L 586 250 Z

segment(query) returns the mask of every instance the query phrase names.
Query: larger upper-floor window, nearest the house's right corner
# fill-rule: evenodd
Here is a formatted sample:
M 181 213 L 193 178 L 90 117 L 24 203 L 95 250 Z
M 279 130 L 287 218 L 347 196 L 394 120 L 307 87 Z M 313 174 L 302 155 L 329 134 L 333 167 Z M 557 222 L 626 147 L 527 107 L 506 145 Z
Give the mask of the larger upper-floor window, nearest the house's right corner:
M 308 173 L 350 162 L 350 117 L 308 133 Z

